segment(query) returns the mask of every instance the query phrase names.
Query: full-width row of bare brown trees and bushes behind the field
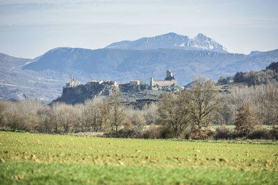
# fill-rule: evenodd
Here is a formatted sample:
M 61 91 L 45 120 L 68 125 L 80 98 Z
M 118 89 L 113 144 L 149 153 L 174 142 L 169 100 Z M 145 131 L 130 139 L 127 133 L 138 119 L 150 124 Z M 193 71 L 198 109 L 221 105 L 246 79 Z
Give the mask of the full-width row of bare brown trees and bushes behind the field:
M 143 138 L 276 138 L 278 89 L 274 85 L 238 86 L 220 91 L 213 80 L 195 78 L 192 87 L 162 94 L 142 109 L 122 104 L 119 91 L 107 100 L 45 105 L 35 100 L 0 101 L 0 126 L 28 132 L 67 134 L 105 132 Z M 222 125 L 216 130 L 211 125 Z M 223 125 L 235 125 L 229 130 Z M 263 125 L 272 125 L 266 130 Z M 120 133 L 120 134 L 119 134 Z

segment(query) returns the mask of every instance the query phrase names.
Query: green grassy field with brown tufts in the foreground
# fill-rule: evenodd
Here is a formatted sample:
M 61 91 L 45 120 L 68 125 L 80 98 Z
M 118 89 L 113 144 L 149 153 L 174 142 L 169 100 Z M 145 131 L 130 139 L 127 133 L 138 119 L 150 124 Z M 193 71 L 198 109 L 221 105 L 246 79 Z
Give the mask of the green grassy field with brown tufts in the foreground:
M 278 184 L 277 141 L 0 132 L 0 184 Z

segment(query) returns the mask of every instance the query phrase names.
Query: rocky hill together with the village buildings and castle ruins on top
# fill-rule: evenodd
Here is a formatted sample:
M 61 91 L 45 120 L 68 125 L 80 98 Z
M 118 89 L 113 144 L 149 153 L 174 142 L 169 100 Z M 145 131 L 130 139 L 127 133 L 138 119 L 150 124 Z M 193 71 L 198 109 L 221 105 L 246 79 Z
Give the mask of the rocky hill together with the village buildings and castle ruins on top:
M 67 82 L 63 88 L 62 96 L 54 100 L 54 102 L 76 104 L 84 103 L 85 100 L 96 97 L 105 99 L 113 94 L 115 89 L 120 89 L 122 98 L 126 103 L 131 103 L 134 101 L 156 101 L 163 91 L 175 92 L 182 90 L 183 87 L 177 85 L 177 80 L 170 70 L 166 71 L 164 80 L 150 78 L 149 85 L 140 80 L 130 80 L 129 83 L 119 83 L 114 80 L 92 80 L 83 85 L 76 81 L 73 76 L 71 81 Z

